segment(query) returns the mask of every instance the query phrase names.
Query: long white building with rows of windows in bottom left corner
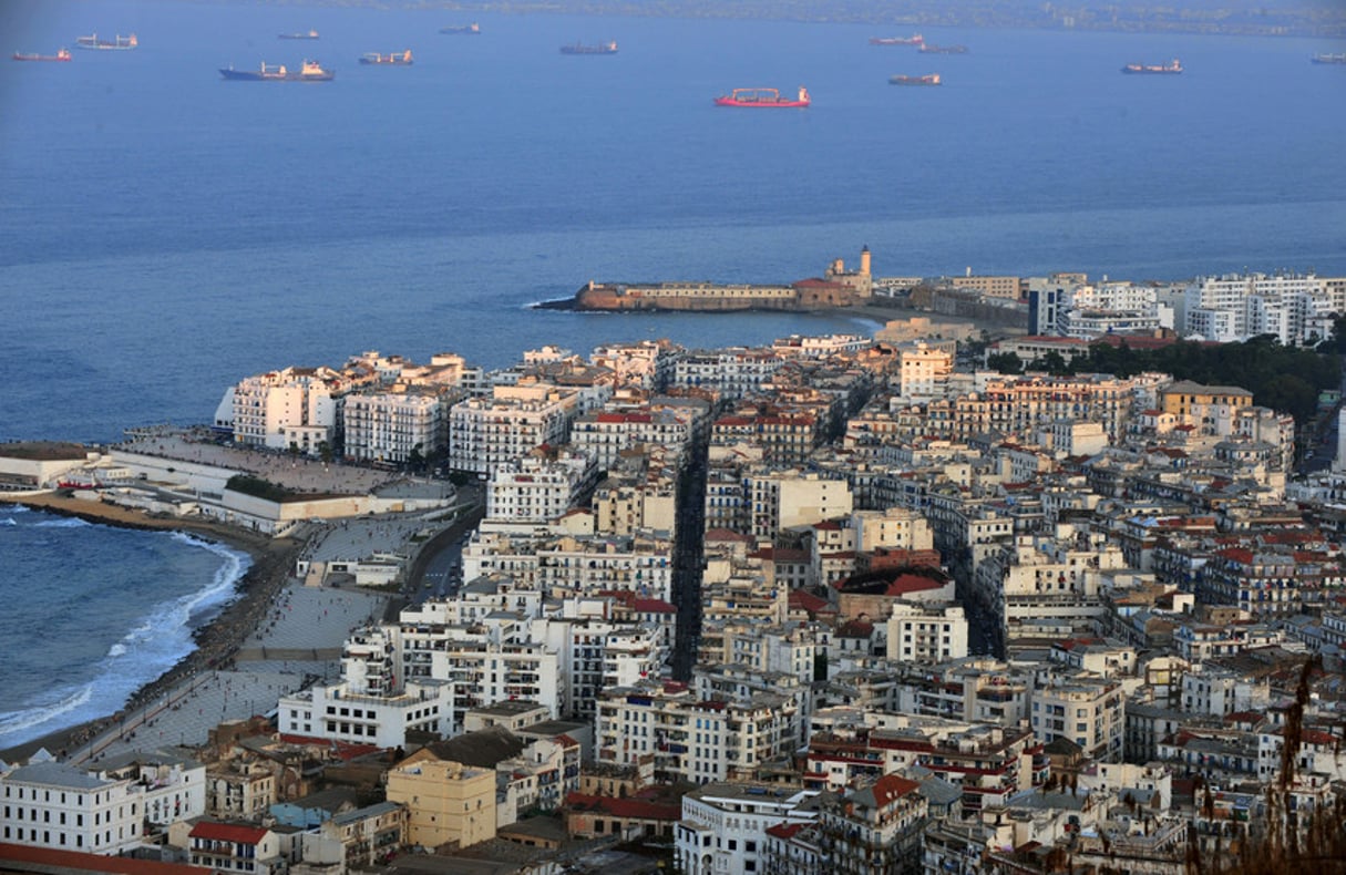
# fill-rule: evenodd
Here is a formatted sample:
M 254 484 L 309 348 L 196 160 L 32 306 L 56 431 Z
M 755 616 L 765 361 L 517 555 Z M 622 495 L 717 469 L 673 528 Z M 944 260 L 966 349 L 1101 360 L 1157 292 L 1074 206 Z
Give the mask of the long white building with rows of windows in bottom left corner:
M 206 813 L 198 762 L 132 754 L 81 769 L 39 757 L 0 774 L 3 841 L 116 855 L 143 843 L 145 823 Z

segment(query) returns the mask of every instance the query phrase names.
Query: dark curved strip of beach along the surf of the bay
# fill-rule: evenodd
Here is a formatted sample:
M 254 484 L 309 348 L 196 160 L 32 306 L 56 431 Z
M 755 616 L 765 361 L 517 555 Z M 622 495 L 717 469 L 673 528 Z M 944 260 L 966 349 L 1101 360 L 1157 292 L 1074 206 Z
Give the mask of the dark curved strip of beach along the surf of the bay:
M 230 666 L 233 656 L 248 635 L 261 625 L 269 606 L 291 579 L 295 559 L 303 549 L 302 542 L 291 538 L 272 540 L 218 522 L 157 517 L 137 510 L 67 498 L 58 494 L 0 495 L 0 501 L 20 503 L 46 513 L 75 517 L 98 525 L 186 532 L 244 551 L 252 557 L 252 564 L 238 582 L 238 596 L 226 604 L 214 621 L 195 631 L 197 648 L 164 674 L 136 691 L 127 700 L 122 711 L 106 715 L 98 720 L 50 732 L 7 750 L 0 750 L 0 759 L 5 762 L 27 759 L 42 747 L 46 747 L 52 754 L 61 754 L 62 751 L 73 753 L 116 726 L 122 713 L 129 713 L 156 701 L 197 674 Z

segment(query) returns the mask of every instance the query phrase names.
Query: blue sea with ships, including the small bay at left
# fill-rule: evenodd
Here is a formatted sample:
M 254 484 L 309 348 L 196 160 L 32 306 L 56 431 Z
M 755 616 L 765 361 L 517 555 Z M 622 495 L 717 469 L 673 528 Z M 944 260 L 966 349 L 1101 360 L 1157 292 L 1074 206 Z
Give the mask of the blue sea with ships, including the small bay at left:
M 820 8 L 824 4 L 820 3 Z M 439 28 L 478 22 L 475 36 Z M 316 40 L 280 34 L 319 31 Z M 209 423 L 226 386 L 365 350 L 501 368 L 555 343 L 760 343 L 844 315 L 533 310 L 590 280 L 1346 275 L 1330 40 L 9 0 L 0 442 Z M 75 38 L 135 32 L 135 51 Z M 615 55 L 563 55 L 616 40 Z M 361 66 L 411 48 L 406 67 Z M 324 83 L 226 82 L 297 67 Z M 1180 58 L 1180 75 L 1123 75 Z M 938 88 L 894 74 L 938 73 Z M 716 108 L 806 86 L 808 109 Z M 109 713 L 191 648 L 246 557 L 0 508 L 0 748 Z

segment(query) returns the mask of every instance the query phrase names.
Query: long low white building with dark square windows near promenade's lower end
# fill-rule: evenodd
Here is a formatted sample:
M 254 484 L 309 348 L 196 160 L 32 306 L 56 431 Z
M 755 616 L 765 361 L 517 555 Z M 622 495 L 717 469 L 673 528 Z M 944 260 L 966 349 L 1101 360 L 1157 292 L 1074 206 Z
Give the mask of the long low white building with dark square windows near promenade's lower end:
M 350 680 L 315 684 L 281 696 L 276 720 L 283 735 L 389 748 L 405 744 L 408 730 L 448 732 L 454 684 L 424 677 L 397 689 L 373 693 Z

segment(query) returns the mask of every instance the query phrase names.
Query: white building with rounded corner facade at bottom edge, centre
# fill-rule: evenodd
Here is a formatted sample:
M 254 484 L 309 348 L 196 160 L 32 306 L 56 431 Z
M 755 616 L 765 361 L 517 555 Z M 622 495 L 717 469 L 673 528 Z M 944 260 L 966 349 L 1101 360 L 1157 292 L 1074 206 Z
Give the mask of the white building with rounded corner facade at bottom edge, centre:
M 817 790 L 756 783 L 709 783 L 682 797 L 674 836 L 686 875 L 752 875 L 766 868 L 767 829 L 814 824 Z

